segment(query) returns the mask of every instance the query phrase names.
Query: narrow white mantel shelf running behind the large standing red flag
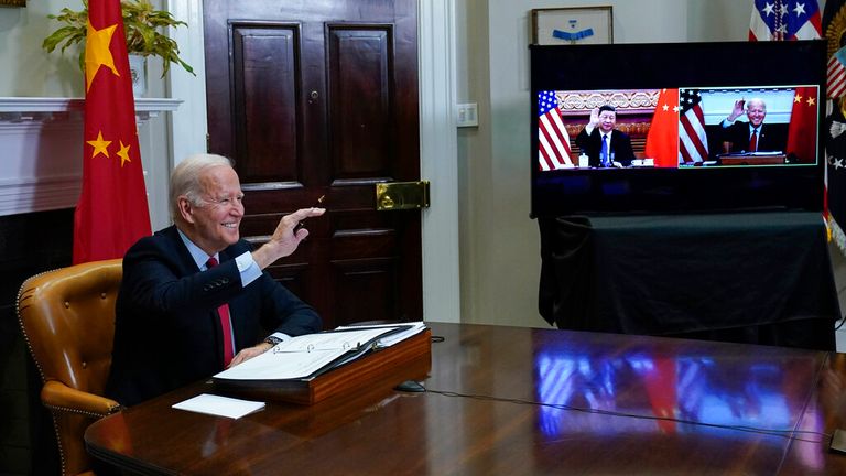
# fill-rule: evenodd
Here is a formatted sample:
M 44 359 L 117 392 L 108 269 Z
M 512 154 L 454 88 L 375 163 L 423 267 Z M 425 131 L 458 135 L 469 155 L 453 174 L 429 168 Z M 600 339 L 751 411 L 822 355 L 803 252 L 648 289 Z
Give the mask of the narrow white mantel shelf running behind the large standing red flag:
M 160 112 L 174 111 L 182 99 L 135 98 L 135 116 L 139 120 L 158 117 Z M 64 97 L 0 97 L 0 122 L 40 121 L 54 113 L 83 111 L 85 99 Z

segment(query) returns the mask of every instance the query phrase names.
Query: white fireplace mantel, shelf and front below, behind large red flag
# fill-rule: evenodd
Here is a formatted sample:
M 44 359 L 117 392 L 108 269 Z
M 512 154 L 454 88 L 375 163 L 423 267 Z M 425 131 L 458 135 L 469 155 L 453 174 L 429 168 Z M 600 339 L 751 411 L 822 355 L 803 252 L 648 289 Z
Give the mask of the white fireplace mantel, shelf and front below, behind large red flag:
M 180 104 L 137 98 L 139 128 Z M 76 206 L 84 108 L 80 98 L 0 97 L 0 215 Z

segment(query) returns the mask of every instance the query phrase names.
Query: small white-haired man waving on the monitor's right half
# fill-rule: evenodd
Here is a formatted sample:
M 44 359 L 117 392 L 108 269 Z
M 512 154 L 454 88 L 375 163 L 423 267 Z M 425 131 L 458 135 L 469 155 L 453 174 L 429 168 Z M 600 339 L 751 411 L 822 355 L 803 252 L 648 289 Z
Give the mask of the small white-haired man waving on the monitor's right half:
M 746 112 L 748 122 L 736 121 Z M 785 126 L 764 125 L 767 104 L 763 99 L 738 99 L 731 112 L 720 122 L 726 152 L 783 152 L 787 144 Z

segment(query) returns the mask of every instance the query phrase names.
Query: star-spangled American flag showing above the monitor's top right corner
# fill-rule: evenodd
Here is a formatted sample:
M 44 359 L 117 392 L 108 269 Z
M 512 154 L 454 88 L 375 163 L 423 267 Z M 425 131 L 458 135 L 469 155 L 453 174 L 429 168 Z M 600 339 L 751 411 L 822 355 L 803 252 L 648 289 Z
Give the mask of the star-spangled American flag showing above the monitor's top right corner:
M 816 0 L 755 0 L 749 40 L 816 40 L 822 22 Z

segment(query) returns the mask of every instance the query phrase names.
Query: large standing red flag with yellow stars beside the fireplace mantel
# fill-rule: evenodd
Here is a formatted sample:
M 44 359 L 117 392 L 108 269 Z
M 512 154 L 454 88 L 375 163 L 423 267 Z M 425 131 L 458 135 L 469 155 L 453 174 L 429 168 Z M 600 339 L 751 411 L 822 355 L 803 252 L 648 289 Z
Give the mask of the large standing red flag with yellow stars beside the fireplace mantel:
M 85 45 L 83 191 L 74 218 L 74 263 L 121 258 L 150 235 L 119 0 L 89 2 Z

